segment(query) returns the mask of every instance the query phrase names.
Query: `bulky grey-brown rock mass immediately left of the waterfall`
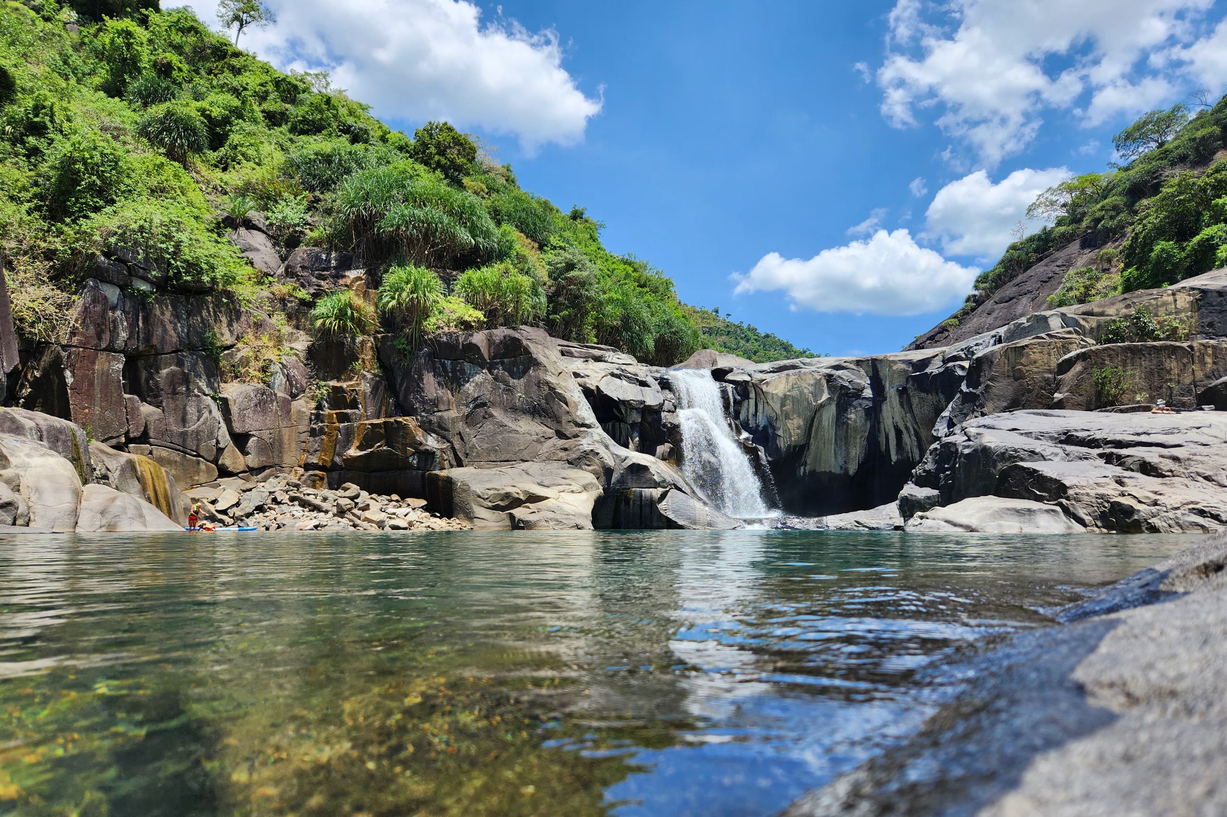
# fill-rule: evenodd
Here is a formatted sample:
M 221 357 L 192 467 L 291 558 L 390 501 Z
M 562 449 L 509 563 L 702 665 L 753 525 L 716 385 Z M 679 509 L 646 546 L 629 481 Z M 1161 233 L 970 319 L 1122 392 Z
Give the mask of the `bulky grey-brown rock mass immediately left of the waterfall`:
M 411 361 L 388 343 L 380 357 L 418 450 L 443 465 L 422 476 L 448 515 L 477 529 L 739 526 L 655 455 L 672 448 L 665 396 L 634 358 L 528 328 L 439 339 Z

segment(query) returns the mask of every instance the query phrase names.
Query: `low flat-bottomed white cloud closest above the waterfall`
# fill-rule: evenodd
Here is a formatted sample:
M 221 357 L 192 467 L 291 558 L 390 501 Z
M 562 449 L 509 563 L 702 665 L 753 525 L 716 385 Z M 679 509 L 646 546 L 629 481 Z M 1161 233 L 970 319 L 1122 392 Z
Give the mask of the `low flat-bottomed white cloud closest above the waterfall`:
M 919 247 L 907 229 L 880 229 L 809 260 L 771 253 L 733 280 L 736 294 L 787 292 L 794 309 L 920 315 L 969 292 L 977 272 Z

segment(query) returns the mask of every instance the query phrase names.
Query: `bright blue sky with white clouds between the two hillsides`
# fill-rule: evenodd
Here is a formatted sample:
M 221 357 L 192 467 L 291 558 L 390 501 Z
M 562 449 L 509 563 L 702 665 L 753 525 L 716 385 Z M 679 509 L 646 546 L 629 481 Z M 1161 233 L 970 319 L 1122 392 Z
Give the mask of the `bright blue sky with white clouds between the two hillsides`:
M 243 47 L 450 119 L 683 301 L 833 355 L 908 343 L 1039 190 L 1227 86 L 1214 0 L 269 2 Z

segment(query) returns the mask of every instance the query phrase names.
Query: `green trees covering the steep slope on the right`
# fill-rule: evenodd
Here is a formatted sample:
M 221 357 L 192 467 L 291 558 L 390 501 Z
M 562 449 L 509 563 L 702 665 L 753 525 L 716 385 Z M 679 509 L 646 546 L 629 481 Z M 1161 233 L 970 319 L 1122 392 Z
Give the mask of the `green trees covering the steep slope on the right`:
M 1047 190 L 1027 211 L 1050 227 L 1012 243 L 975 281 L 961 318 L 1072 240 L 1104 247 L 1071 270 L 1054 305 L 1175 283 L 1227 265 L 1227 97 L 1193 114 L 1152 110 L 1113 140 L 1128 163 Z

